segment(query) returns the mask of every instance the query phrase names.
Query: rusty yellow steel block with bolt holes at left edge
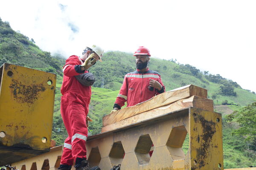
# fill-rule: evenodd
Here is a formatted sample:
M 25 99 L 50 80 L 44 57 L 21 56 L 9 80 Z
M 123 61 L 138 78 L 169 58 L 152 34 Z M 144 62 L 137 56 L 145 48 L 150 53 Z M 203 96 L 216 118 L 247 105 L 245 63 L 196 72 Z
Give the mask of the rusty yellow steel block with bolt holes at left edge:
M 0 68 L 0 166 L 49 151 L 56 75 Z

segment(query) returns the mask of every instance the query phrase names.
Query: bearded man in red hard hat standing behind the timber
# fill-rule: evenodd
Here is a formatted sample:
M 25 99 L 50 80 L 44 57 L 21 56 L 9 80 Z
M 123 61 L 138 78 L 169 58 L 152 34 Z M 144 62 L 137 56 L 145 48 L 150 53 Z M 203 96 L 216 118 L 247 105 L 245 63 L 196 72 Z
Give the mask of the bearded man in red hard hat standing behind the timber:
M 149 57 L 151 56 L 148 48 L 139 47 L 134 56 L 136 57 L 137 70 L 125 75 L 113 111 L 121 109 L 125 102 L 127 102 L 127 107 L 134 106 L 165 92 L 160 74 L 148 68 Z

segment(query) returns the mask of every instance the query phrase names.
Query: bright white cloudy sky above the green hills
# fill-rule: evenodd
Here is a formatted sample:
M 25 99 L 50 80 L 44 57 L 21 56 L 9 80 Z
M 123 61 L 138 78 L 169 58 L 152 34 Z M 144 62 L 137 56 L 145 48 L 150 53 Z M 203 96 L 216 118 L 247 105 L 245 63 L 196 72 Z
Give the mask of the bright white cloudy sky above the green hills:
M 44 51 L 105 51 L 177 59 L 256 92 L 255 0 L 2 0 L 0 17 Z M 104 60 L 104 59 L 103 59 Z

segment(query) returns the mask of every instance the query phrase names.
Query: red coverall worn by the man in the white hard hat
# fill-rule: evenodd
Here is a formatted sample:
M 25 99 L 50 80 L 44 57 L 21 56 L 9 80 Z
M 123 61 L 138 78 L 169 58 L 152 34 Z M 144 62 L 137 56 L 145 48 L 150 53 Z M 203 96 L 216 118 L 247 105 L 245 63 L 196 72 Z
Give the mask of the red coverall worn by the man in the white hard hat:
M 88 129 L 86 116 L 89 111 L 91 87 L 83 86 L 76 75 L 81 71 L 83 61 L 78 56 L 70 56 L 63 67 L 63 83 L 61 86 L 61 116 L 67 129 L 68 137 L 64 142 L 61 164 L 73 165 L 76 158 L 86 159 L 86 139 Z

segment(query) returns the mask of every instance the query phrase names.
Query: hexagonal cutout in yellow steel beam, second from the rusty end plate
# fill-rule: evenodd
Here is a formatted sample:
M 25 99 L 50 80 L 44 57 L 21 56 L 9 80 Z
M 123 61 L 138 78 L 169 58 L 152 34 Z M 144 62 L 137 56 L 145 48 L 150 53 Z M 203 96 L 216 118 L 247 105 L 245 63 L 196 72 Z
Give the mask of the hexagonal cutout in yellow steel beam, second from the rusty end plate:
M 149 152 L 151 150 L 152 144 L 153 142 L 149 134 L 140 136 L 134 150 L 140 165 L 148 164 L 151 158 Z

